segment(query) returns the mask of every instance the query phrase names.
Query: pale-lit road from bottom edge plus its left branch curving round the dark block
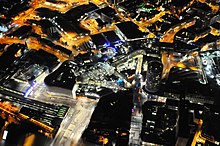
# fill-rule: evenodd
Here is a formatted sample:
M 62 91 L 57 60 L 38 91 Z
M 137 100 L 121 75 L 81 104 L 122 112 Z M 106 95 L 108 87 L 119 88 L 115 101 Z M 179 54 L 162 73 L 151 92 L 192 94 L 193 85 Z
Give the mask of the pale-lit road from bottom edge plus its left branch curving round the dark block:
M 47 74 L 44 76 L 46 75 Z M 62 96 L 55 92 L 50 93 L 47 91 L 46 86 L 43 83 L 44 76 L 38 79 L 38 83 L 35 85 L 35 90 L 32 91 L 28 98 L 41 102 L 68 105 L 70 109 L 64 117 L 51 146 L 77 145 L 83 131 L 90 122 L 90 118 L 98 103 L 98 99 L 94 100 L 86 97 L 74 99 L 71 95 Z

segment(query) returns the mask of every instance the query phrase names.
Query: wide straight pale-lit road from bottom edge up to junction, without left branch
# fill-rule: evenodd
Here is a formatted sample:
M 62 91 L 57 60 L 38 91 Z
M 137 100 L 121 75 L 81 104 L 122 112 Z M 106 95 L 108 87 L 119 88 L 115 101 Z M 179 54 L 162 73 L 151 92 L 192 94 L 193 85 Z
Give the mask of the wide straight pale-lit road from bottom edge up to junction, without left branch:
M 77 145 L 83 131 L 88 126 L 92 113 L 98 100 L 78 100 L 76 106 L 72 107 L 58 131 L 52 145 L 71 146 Z

